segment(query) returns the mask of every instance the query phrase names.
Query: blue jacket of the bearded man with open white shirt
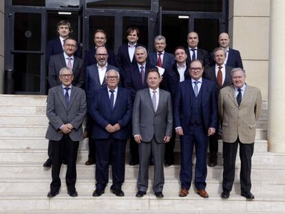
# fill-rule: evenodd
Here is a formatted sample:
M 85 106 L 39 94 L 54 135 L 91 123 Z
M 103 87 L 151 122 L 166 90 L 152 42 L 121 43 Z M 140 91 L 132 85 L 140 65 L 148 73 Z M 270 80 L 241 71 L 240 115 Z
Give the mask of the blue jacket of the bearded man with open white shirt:
M 107 64 L 106 71 L 108 71 L 109 69 L 115 69 L 116 71 L 118 71 L 117 67 Z M 104 78 L 102 85 L 100 83 L 98 67 L 96 64 L 89 65 L 86 67 L 84 83 L 85 83 L 85 92 L 86 92 L 86 98 L 87 98 L 87 106 L 88 106 L 88 111 L 89 111 L 89 105 L 91 104 L 92 98 L 94 98 L 94 92 L 97 89 L 100 89 L 101 87 L 106 87 L 105 78 Z

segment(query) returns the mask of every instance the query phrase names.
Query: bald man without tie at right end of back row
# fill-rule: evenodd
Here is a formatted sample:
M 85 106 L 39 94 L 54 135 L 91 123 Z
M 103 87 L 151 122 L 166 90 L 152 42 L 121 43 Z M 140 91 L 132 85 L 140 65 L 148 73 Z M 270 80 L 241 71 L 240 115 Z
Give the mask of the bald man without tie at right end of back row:
M 229 67 L 240 67 L 244 68 L 242 65 L 242 58 L 240 56 L 240 52 L 238 50 L 234 50 L 229 47 L 231 39 L 229 38 L 229 34 L 222 32 L 219 36 L 218 43 L 220 47 L 223 47 L 226 50 L 226 58 L 224 60 L 224 64 Z

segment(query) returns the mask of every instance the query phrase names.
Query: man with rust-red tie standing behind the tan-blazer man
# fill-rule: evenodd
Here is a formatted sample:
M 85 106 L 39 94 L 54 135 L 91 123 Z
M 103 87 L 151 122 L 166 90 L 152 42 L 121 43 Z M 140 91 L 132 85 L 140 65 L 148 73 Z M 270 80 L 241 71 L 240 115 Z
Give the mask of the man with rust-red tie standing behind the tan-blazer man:
M 231 85 L 231 69 L 232 67 L 224 65 L 224 59 L 226 58 L 226 51 L 223 47 L 216 47 L 213 50 L 213 59 L 215 65 L 208 67 L 204 71 L 204 78 L 209 81 L 215 82 L 218 92 L 221 88 Z M 218 95 L 217 92 L 217 95 Z M 217 97 L 218 100 L 218 97 Z M 209 167 L 215 167 L 217 165 L 217 153 L 218 153 L 218 130 L 220 127 L 220 122 L 218 122 L 218 127 L 216 127 L 216 132 L 210 136 L 209 140 Z

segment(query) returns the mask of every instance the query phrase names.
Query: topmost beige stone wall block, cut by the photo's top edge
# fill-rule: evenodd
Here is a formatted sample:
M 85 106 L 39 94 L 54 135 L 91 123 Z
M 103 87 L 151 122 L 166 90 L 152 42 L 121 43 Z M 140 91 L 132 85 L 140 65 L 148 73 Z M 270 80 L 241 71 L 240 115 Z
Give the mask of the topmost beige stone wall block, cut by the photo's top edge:
M 234 16 L 269 17 L 270 15 L 270 0 L 235 0 L 233 3 L 230 1 L 230 6 L 231 4 Z

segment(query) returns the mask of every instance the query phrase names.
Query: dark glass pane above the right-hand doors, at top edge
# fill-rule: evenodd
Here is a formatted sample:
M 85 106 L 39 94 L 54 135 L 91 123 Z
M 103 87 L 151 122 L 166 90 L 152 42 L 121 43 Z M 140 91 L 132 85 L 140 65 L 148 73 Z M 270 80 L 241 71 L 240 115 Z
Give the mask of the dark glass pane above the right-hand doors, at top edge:
M 159 0 L 162 10 L 222 12 L 222 0 Z

